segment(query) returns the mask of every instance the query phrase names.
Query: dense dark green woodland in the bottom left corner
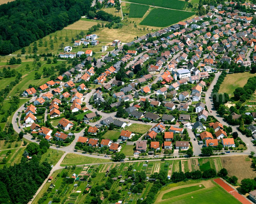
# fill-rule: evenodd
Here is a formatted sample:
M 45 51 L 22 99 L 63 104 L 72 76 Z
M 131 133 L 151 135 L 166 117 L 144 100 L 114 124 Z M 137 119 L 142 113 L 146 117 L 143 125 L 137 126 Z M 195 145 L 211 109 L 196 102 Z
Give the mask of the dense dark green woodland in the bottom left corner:
M 28 203 L 50 173 L 47 162 L 40 163 L 33 155 L 30 161 L 22 158 L 19 164 L 0 169 L 0 203 Z

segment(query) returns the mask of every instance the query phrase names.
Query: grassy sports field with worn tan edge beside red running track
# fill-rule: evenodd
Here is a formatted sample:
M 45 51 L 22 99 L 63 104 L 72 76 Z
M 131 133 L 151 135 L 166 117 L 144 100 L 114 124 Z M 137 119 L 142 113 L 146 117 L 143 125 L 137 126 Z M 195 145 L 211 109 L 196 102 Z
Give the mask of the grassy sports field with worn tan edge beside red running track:
M 201 187 L 205 188 L 199 188 Z M 203 186 L 202 186 L 203 185 Z M 187 188 L 191 187 L 191 188 Z M 188 192 L 188 189 L 192 192 Z M 174 191 L 178 190 L 178 191 Z M 163 195 L 174 191 L 175 197 L 162 200 Z M 212 180 L 202 181 L 196 184 L 178 185 L 165 191 L 160 191 L 155 203 L 161 204 L 216 204 L 216 203 L 240 203 L 236 198 L 230 195 L 226 190 L 220 187 Z M 241 204 L 241 203 L 240 203 Z

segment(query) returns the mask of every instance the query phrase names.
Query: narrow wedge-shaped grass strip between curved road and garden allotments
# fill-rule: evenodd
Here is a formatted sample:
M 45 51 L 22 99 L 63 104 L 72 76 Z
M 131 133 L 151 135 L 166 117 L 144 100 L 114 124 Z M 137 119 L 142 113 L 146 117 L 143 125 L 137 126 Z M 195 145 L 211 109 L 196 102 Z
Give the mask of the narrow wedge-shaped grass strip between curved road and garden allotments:
M 109 159 L 100 159 L 94 157 L 87 157 L 86 155 L 79 155 L 74 153 L 68 153 L 66 157 L 61 162 L 61 166 L 71 166 L 71 165 L 80 165 L 80 164 L 92 164 L 92 163 L 104 163 L 104 162 L 111 162 Z

